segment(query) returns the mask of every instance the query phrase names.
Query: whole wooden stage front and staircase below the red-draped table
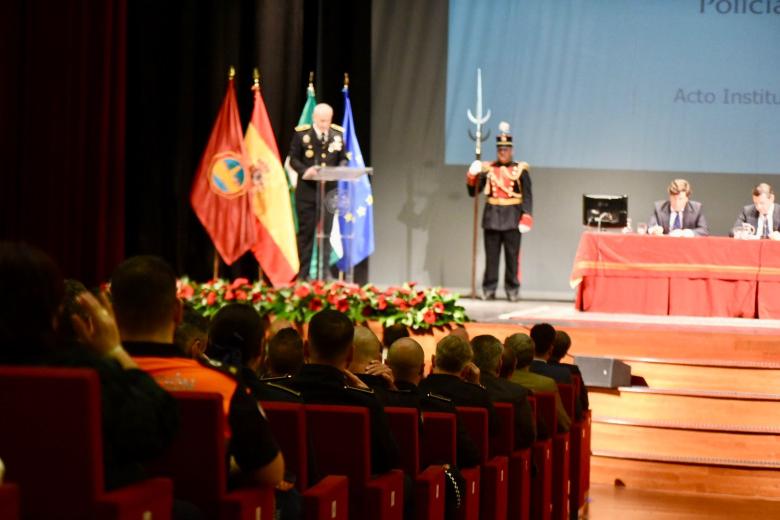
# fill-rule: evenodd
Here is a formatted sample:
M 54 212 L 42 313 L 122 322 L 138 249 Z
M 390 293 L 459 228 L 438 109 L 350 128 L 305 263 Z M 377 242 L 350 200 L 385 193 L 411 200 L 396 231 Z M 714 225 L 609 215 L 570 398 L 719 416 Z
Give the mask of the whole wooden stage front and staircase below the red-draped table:
M 471 337 L 548 322 L 569 333 L 572 355 L 620 359 L 644 379 L 590 390 L 593 484 L 780 501 L 780 320 L 461 304 Z

